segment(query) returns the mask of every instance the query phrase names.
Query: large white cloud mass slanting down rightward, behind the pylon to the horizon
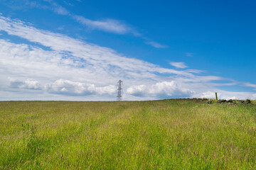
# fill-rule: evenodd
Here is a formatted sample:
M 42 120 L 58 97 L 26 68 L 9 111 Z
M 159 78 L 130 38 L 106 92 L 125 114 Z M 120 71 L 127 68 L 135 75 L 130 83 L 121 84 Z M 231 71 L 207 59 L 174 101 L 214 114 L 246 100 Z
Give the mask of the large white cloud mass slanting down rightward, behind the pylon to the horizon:
M 183 62 L 175 64 L 178 69 L 160 67 L 4 16 L 0 31 L 24 40 L 0 39 L 0 100 L 113 101 L 119 79 L 124 81 L 124 100 L 213 98 L 215 91 L 220 98 L 256 98 L 252 92 L 222 91 L 218 86 L 238 82 L 223 84 L 228 79 L 202 76 Z

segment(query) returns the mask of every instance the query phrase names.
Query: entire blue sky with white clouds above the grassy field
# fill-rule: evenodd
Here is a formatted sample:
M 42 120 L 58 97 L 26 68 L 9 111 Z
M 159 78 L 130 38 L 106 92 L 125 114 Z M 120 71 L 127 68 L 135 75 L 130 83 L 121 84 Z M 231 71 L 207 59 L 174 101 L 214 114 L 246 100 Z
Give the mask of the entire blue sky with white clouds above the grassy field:
M 256 98 L 255 7 L 0 0 L 0 100 Z

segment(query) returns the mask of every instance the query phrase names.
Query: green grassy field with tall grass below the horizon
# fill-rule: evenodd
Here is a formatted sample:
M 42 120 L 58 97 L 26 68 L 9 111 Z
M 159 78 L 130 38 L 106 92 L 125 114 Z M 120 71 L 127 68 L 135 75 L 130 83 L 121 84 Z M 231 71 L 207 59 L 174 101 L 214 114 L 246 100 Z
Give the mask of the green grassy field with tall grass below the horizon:
M 3 101 L 0 169 L 256 169 L 256 105 Z

